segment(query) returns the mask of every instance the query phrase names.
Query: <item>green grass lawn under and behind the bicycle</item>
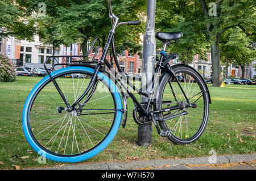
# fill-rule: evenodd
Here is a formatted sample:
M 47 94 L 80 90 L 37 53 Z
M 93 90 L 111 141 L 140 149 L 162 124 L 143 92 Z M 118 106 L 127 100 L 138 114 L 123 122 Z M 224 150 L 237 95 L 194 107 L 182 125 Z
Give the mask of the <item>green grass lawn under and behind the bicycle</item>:
M 23 134 L 23 105 L 40 79 L 18 77 L 15 82 L 0 82 L 0 169 L 62 164 L 48 159 L 44 165 L 38 163 L 38 154 Z M 104 151 L 83 163 L 204 157 L 210 156 L 210 150 L 215 150 L 217 155 L 255 153 L 256 86 L 212 87 L 208 84 L 208 87 L 212 104 L 207 128 L 198 141 L 190 145 L 174 145 L 167 138 L 160 137 L 153 125 L 151 146 L 137 146 L 138 125 L 133 121 L 133 101 L 128 99 L 126 128 L 120 127 Z

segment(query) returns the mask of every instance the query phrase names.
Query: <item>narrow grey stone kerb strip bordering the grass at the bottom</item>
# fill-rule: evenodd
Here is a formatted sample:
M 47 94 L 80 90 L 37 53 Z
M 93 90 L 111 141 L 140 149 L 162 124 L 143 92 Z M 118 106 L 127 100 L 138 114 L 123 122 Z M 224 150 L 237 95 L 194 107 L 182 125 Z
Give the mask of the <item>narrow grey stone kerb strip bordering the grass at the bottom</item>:
M 113 163 L 92 163 L 79 165 L 64 165 L 56 167 L 41 168 L 43 170 L 131 170 L 147 167 L 164 167 L 177 165 L 208 165 L 221 163 L 249 162 L 256 159 L 256 154 L 250 155 L 221 155 L 216 157 L 185 158 L 185 159 L 160 159 L 153 161 L 130 161 Z

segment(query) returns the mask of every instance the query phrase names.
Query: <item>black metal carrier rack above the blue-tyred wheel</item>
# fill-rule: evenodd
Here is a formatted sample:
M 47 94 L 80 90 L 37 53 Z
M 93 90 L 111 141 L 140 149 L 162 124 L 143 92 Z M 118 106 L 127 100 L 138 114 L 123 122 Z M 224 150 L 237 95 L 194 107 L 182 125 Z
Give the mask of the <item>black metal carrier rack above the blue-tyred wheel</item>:
M 74 66 L 74 65 L 90 65 L 90 64 L 97 64 L 98 61 L 94 61 L 95 60 L 95 57 L 96 57 L 96 53 L 94 54 L 93 58 L 92 58 L 92 61 L 83 61 L 82 58 L 84 57 L 88 57 L 90 52 L 92 52 L 92 49 L 94 47 L 94 44 L 96 43 L 96 41 L 98 41 L 98 47 L 96 49 L 96 52 L 98 52 L 98 50 L 100 49 L 100 44 L 101 44 L 101 41 L 100 41 L 100 37 L 96 37 L 94 40 L 93 40 L 93 43 L 92 45 L 90 46 L 90 49 L 88 51 L 88 53 L 84 56 L 49 56 L 46 61 L 44 61 L 44 68 L 46 69 L 49 77 L 51 77 L 51 73 L 54 71 L 54 68 L 58 65 L 65 65 L 65 66 Z M 47 64 L 46 62 L 52 58 L 52 61 L 53 61 L 53 64 L 52 64 L 52 67 L 51 69 L 47 69 Z M 60 64 L 60 62 L 56 59 L 56 58 L 61 58 L 61 61 L 65 61 L 65 63 L 62 63 Z M 79 60 L 77 60 L 77 58 L 79 58 Z M 67 60 L 70 60 L 71 59 L 71 63 L 70 62 L 67 62 Z M 54 64 L 54 62 L 58 62 L 57 64 Z

